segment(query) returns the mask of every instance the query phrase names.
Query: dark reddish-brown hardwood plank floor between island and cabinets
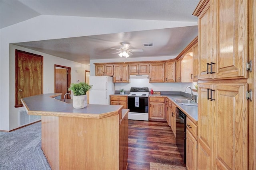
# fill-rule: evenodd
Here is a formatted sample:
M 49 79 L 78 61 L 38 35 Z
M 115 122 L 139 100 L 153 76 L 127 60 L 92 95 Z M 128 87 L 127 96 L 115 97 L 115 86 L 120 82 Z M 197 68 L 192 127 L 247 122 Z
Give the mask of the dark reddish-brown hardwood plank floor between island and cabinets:
M 167 122 L 128 123 L 128 170 L 186 170 Z

